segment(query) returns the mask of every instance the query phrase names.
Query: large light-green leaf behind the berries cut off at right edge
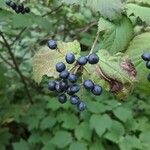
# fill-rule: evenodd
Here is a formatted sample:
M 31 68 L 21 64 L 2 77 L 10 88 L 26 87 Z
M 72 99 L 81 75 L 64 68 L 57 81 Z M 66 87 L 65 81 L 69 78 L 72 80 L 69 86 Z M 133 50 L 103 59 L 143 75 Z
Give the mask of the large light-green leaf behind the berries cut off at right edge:
M 142 60 L 141 55 L 145 52 L 150 52 L 150 32 L 137 35 L 130 43 L 126 54 L 130 56 L 132 63 L 137 70 L 137 89 L 141 92 L 150 94 L 150 84 L 148 83 L 147 76 L 149 70 L 145 66 L 145 62 Z

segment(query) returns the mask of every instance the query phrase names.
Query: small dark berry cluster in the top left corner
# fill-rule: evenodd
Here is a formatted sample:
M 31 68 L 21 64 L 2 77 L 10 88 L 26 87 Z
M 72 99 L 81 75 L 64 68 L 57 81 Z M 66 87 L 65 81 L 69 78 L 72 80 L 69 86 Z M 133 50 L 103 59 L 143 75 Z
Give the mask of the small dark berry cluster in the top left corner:
M 24 5 L 21 3 L 19 5 L 17 5 L 15 2 L 11 1 L 11 0 L 6 0 L 6 5 L 11 7 L 13 10 L 15 10 L 15 12 L 18 13 L 29 13 L 30 12 L 30 8 L 29 7 L 24 7 Z

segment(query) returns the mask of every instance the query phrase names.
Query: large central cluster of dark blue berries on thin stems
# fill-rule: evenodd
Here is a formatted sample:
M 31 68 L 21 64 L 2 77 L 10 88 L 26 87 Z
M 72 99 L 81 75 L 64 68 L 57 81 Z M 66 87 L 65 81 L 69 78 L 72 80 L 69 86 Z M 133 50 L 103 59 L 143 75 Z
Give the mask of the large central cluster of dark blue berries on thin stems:
M 48 46 L 52 50 L 57 49 L 57 42 L 54 40 L 49 40 Z M 67 97 L 70 97 L 70 103 L 72 105 L 76 105 L 79 111 L 83 111 L 86 109 L 86 104 L 76 94 L 80 91 L 81 88 L 84 87 L 92 94 L 98 96 L 102 93 L 102 87 L 95 85 L 91 80 L 85 80 L 81 85 L 78 84 L 77 80 L 80 76 L 78 71 L 83 70 L 84 65 L 87 63 L 92 65 L 97 64 L 99 62 L 99 57 L 93 53 L 89 56 L 81 56 L 76 60 L 73 53 L 67 53 L 65 56 L 65 61 L 68 64 L 75 64 L 71 69 L 72 71 L 68 71 L 66 65 L 63 62 L 57 63 L 56 71 L 59 72 L 59 80 L 50 81 L 48 83 L 48 89 L 58 93 L 58 101 L 60 103 L 66 103 Z

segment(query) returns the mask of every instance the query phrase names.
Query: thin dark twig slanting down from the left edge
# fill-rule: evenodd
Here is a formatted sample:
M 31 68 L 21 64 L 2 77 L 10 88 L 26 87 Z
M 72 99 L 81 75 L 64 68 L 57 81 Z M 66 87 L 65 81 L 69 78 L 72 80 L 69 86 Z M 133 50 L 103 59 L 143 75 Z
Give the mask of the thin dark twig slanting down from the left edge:
M 22 83 L 24 84 L 24 88 L 25 88 L 25 90 L 26 90 L 26 93 L 27 93 L 27 96 L 28 96 L 28 98 L 29 98 L 29 101 L 30 101 L 31 104 L 33 104 L 32 97 L 31 97 L 31 95 L 30 95 L 30 93 L 29 93 L 29 89 L 28 89 L 27 83 L 26 83 L 26 81 L 25 81 L 25 79 L 24 79 L 24 76 L 22 75 L 22 73 L 21 73 L 21 71 L 20 71 L 20 69 L 19 69 L 19 66 L 18 66 L 18 64 L 17 64 L 17 62 L 16 62 L 16 59 L 15 59 L 15 56 L 14 56 L 12 50 L 11 50 L 11 47 L 10 47 L 10 45 L 8 44 L 8 42 L 7 42 L 6 38 L 5 38 L 5 36 L 3 35 L 3 33 L 2 33 L 1 31 L 0 31 L 0 35 L 1 35 L 2 39 L 3 39 L 3 41 L 4 41 L 4 44 L 5 44 L 5 46 L 6 46 L 7 50 L 8 50 L 9 55 L 11 56 L 11 59 L 12 59 L 13 64 L 14 64 L 14 66 L 15 66 L 15 70 L 18 72 L 18 74 L 19 74 L 19 76 L 20 76 L 20 78 L 21 78 L 21 80 L 22 80 Z

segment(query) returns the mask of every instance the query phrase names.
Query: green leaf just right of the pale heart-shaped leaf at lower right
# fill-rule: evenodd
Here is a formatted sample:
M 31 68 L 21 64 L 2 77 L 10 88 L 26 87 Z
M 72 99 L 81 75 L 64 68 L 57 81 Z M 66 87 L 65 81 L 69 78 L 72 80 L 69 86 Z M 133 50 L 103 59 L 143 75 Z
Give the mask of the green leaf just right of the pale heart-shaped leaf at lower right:
M 105 138 L 112 142 L 118 143 L 124 133 L 125 130 L 123 125 L 120 122 L 113 120 L 111 128 L 105 134 Z

